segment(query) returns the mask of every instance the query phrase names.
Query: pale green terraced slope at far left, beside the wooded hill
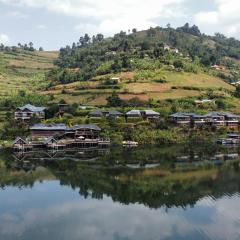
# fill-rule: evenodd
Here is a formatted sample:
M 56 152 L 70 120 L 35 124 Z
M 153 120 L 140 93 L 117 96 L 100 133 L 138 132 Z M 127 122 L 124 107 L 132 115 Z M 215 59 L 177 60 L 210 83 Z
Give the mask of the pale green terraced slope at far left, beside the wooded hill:
M 45 72 L 53 67 L 58 52 L 24 51 L 0 52 L 0 98 L 18 90 L 44 87 Z

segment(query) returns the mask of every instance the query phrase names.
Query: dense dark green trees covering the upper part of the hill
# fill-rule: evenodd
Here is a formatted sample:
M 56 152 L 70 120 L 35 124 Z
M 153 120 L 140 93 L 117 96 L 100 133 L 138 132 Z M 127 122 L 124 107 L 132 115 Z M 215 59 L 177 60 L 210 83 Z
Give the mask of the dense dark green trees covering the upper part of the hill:
M 196 72 L 194 64 L 209 67 L 222 63 L 224 57 L 238 59 L 240 41 L 219 33 L 206 36 L 197 26 L 190 27 L 189 24 L 177 29 L 170 26 L 139 32 L 133 29 L 129 34 L 120 32 L 112 38 L 85 34 L 77 43 L 60 49 L 56 61 L 58 68 L 52 70 L 48 78 L 65 84 L 108 73 L 154 70 L 162 65 Z M 184 64 L 186 60 L 194 64 Z

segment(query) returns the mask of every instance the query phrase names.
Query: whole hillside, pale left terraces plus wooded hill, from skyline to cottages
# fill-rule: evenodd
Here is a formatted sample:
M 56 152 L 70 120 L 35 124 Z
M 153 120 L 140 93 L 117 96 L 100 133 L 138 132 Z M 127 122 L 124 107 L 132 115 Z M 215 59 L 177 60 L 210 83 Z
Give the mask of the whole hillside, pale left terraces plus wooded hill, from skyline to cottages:
M 53 102 L 109 106 L 107 99 L 116 93 L 145 106 L 168 101 L 170 107 L 185 100 L 178 109 L 189 109 L 189 102 L 194 108 L 196 98 L 212 98 L 223 109 L 238 112 L 231 83 L 240 80 L 239 59 L 238 40 L 219 33 L 206 36 L 188 24 L 132 29 L 108 38 L 85 34 L 59 53 L 5 47 L 0 48 L 0 98 L 16 99 L 17 90 L 26 90 L 51 94 Z

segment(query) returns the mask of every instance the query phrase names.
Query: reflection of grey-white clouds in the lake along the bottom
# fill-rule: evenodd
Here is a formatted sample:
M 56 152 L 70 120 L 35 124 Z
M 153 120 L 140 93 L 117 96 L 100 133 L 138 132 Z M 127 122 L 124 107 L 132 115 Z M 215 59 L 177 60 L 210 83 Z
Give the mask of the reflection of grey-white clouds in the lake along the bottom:
M 65 194 L 69 196 L 69 191 Z M 33 204 L 39 208 L 27 204 L 21 211 L 13 206 L 0 212 L 0 238 L 32 239 L 34 233 L 39 239 L 239 239 L 237 194 L 218 200 L 206 197 L 194 208 L 168 212 L 142 204 L 123 205 L 108 197 L 55 200 Z M 24 206 L 21 197 L 18 201 Z

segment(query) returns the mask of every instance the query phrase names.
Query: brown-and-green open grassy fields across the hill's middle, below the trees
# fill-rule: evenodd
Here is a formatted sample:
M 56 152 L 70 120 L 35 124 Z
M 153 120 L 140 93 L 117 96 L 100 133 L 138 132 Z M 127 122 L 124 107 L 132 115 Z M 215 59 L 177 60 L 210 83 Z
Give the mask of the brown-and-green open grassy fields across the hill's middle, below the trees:
M 164 100 L 184 97 L 197 97 L 206 93 L 209 89 L 217 90 L 219 88 L 233 91 L 234 87 L 223 80 L 211 76 L 207 73 L 179 73 L 171 71 L 161 71 L 156 73 L 154 79 L 161 79 L 163 76 L 166 83 L 157 83 L 154 79 L 137 79 L 139 73 L 121 73 L 116 76 L 121 77 L 121 89 L 96 89 L 102 83 L 100 79 L 110 76 L 101 76 L 93 79 L 89 83 L 73 83 L 67 85 L 58 85 L 45 94 L 53 93 L 56 99 L 65 99 L 68 102 L 80 102 L 85 104 L 105 104 L 105 98 L 113 91 L 117 91 L 122 99 L 138 97 L 142 100 L 149 98 Z M 84 90 L 78 90 L 79 86 L 87 86 Z M 196 89 L 183 89 L 194 87 Z M 62 90 L 65 93 L 62 94 Z

